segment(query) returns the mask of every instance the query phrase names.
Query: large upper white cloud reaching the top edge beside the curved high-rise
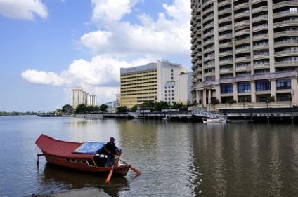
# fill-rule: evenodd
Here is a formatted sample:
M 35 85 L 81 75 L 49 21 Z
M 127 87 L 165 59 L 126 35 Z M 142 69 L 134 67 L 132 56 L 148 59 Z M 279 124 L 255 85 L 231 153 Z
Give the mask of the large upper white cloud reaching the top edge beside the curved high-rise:
M 92 20 L 99 27 L 105 25 L 105 30 L 86 33 L 81 37 L 81 42 L 94 55 L 152 54 L 161 58 L 171 55 L 190 56 L 189 2 L 176 0 L 171 5 L 163 4 L 164 13 L 159 13 L 157 21 L 143 13 L 138 16 L 141 25 L 122 21 L 122 17 L 131 12 L 131 6 L 136 1 L 121 1 L 121 6 L 114 6 L 113 1 L 93 1 L 93 4 L 95 8 Z

